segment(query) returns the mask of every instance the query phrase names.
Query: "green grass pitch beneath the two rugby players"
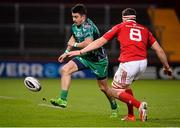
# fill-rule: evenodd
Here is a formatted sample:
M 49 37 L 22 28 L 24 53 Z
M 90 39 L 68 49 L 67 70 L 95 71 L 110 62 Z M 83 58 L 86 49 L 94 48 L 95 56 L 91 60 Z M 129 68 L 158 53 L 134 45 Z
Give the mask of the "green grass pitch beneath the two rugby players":
M 59 127 L 180 127 L 180 81 L 139 80 L 133 83 L 137 99 L 148 102 L 148 121 L 123 122 L 126 105 L 120 101 L 119 117 L 109 118 L 110 106 L 99 91 L 96 80 L 73 80 L 68 107 L 52 108 L 43 101 L 58 97 L 58 79 L 40 79 L 42 90 L 31 92 L 23 79 L 0 78 L 0 127 L 59 126 Z M 109 80 L 109 83 L 111 80 Z

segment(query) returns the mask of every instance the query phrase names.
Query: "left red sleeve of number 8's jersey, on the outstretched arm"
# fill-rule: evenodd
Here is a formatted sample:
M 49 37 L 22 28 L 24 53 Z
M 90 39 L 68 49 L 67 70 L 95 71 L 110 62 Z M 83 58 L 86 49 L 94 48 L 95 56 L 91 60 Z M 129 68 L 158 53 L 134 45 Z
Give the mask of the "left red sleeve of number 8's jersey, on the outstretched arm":
M 108 32 L 106 32 L 103 37 L 106 39 L 106 40 L 111 40 L 116 34 L 117 32 L 119 31 L 119 26 L 116 25 L 114 27 L 112 27 Z

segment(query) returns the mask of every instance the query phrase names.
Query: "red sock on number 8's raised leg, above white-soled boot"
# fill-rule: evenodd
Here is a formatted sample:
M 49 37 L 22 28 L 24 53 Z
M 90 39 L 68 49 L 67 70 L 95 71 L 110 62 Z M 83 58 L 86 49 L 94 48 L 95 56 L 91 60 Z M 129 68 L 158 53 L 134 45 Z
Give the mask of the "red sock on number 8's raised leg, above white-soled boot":
M 127 92 L 121 92 L 119 94 L 119 100 L 125 103 L 132 104 L 136 108 L 139 108 L 141 102 L 136 100 L 132 95 L 128 94 Z

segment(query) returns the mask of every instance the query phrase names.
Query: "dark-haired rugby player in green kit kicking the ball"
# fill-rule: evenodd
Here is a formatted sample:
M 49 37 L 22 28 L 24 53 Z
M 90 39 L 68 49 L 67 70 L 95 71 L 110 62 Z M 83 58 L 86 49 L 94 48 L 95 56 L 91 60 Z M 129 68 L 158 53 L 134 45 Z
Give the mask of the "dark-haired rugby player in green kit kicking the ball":
M 59 62 L 64 62 L 67 57 L 67 53 L 71 49 L 84 48 L 93 40 L 100 37 L 100 32 L 96 25 L 87 18 L 87 9 L 83 4 L 77 4 L 71 9 L 72 19 L 74 24 L 71 27 L 72 36 L 68 41 L 68 46 L 64 54 L 59 58 Z M 108 73 L 108 58 L 106 51 L 103 47 L 97 50 L 88 52 L 81 56 L 77 56 L 71 59 L 61 68 L 61 93 L 58 99 L 51 99 L 50 102 L 59 107 L 65 108 L 67 106 L 68 90 L 71 83 L 71 75 L 74 72 L 90 69 L 97 78 L 97 83 L 102 92 L 107 96 L 111 105 L 110 117 L 117 117 L 118 106 L 114 98 L 109 97 L 106 93 L 108 89 L 107 73 Z

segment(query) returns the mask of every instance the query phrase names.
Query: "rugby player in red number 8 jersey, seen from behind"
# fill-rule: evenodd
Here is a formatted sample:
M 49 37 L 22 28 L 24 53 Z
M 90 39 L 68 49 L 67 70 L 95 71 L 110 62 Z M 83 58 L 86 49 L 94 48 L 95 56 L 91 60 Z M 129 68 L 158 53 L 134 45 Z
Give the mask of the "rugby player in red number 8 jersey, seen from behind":
M 133 8 L 123 10 L 122 20 L 122 23 L 112 27 L 102 37 L 81 50 L 68 53 L 68 56 L 77 56 L 97 49 L 116 37 L 120 44 L 118 58 L 120 64 L 114 75 L 109 94 L 127 104 L 128 115 L 122 120 L 135 121 L 134 106 L 139 110 L 140 120 L 144 122 L 147 120 L 147 103 L 135 99 L 130 85 L 146 70 L 148 45 L 156 52 L 163 65 L 164 73 L 171 77 L 172 70 L 168 64 L 166 54 L 155 37 L 146 27 L 136 22 L 136 10 Z

